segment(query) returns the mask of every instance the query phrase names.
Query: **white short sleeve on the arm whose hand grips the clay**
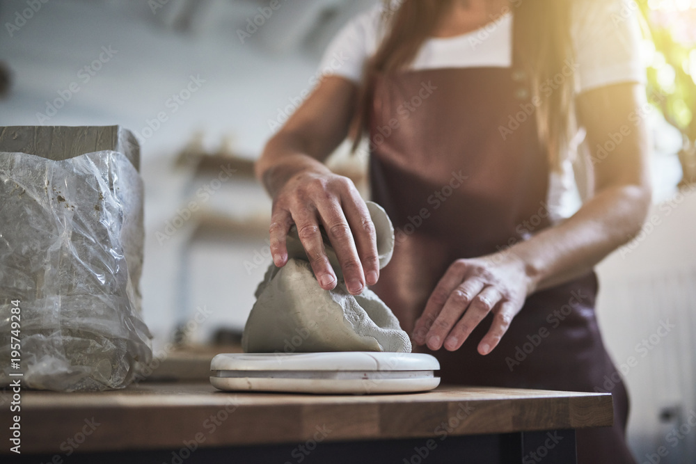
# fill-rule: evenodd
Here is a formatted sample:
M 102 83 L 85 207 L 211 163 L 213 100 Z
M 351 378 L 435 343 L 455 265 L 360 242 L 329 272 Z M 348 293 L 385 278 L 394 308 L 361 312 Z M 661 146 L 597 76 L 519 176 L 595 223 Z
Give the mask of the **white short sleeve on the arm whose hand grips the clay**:
M 324 51 L 319 72 L 324 76 L 341 76 L 359 83 L 365 61 L 377 51 L 380 32 L 380 6 L 351 19 Z

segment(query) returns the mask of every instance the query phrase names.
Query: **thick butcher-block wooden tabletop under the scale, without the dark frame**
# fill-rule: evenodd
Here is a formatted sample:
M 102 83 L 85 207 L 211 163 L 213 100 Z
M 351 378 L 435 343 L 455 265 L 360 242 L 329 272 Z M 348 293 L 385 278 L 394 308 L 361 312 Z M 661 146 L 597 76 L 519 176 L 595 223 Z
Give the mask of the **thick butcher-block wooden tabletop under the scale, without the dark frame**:
M 10 394 L 0 395 L 8 442 Z M 15 413 L 12 413 L 15 414 Z M 100 393 L 22 392 L 22 453 L 377 440 L 610 426 L 610 394 L 441 386 L 372 396 L 218 392 L 140 383 Z M 71 442 L 72 440 L 72 442 Z M 7 453 L 3 447 L 0 453 Z

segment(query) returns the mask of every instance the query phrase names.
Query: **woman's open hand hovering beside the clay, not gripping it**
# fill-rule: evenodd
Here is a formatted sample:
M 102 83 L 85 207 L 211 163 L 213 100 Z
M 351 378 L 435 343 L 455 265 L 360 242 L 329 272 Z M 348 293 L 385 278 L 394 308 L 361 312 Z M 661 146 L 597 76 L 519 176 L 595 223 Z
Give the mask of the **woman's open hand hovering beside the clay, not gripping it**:
M 457 259 L 445 272 L 416 321 L 413 339 L 429 349 L 459 349 L 493 312 L 493 323 L 478 345 L 482 355 L 500 342 L 533 287 L 524 262 L 511 253 Z

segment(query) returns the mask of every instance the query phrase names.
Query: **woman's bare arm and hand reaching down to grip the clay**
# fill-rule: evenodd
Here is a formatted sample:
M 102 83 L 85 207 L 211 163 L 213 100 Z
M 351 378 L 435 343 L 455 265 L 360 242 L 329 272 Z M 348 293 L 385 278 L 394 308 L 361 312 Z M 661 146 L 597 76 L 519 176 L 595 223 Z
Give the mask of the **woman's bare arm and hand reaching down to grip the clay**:
M 271 137 L 255 166 L 256 176 L 274 198 L 270 232 L 276 266 L 287 262 L 285 238 L 294 224 L 319 285 L 335 288 L 338 281 L 319 231 L 323 226 L 351 294 L 361 293 L 379 278 L 374 225 L 353 182 L 332 173 L 322 161 L 348 135 L 357 100 L 355 83 L 324 77 Z

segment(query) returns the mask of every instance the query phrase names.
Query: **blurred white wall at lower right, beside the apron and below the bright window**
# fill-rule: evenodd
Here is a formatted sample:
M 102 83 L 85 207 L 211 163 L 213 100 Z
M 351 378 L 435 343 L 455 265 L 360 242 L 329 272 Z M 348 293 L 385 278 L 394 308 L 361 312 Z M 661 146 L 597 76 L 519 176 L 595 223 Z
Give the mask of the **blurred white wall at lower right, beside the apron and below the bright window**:
M 641 462 L 661 446 L 669 451 L 662 463 L 696 457 L 696 427 L 688 425 L 696 423 L 695 232 L 693 187 L 655 205 L 638 237 L 597 269 L 597 314 L 628 383 L 629 439 Z M 671 417 L 661 419 L 667 410 Z

